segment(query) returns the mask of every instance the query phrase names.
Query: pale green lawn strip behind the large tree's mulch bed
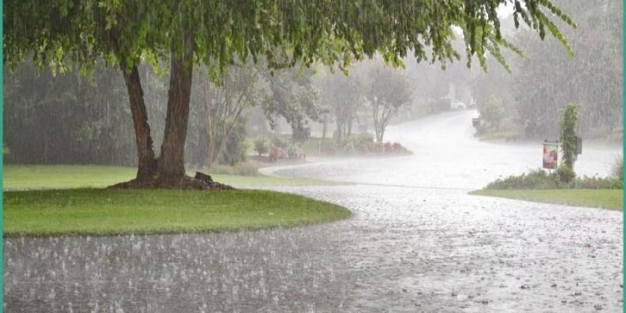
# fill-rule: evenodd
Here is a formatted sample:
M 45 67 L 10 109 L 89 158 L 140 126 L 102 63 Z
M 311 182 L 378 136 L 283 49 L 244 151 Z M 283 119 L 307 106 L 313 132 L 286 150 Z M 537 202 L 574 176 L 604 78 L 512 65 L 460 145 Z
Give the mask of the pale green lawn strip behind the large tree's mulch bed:
M 6 165 L 3 169 L 5 191 L 26 189 L 103 188 L 125 182 L 136 175 L 136 168 L 118 166 L 43 166 Z M 189 173 L 193 175 L 193 173 Z M 319 179 L 211 175 L 216 182 L 234 186 L 311 186 L 337 184 Z

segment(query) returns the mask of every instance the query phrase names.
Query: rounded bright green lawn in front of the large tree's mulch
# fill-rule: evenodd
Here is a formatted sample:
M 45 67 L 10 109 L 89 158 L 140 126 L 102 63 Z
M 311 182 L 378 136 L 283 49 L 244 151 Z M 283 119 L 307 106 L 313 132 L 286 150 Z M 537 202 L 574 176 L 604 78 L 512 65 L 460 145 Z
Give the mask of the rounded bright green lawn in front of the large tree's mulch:
M 108 180 L 103 179 L 107 182 Z M 4 236 L 157 234 L 306 225 L 350 211 L 273 191 L 5 191 Z

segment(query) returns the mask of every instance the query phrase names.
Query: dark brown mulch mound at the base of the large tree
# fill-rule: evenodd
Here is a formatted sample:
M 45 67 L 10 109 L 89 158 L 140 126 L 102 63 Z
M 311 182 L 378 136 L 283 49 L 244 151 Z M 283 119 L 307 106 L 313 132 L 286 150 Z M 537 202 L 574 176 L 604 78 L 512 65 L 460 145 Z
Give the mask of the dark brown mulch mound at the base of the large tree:
M 232 190 L 232 186 L 214 182 L 211 176 L 196 172 L 195 177 L 182 177 L 175 180 L 131 179 L 107 188 L 111 189 L 188 189 L 188 190 Z

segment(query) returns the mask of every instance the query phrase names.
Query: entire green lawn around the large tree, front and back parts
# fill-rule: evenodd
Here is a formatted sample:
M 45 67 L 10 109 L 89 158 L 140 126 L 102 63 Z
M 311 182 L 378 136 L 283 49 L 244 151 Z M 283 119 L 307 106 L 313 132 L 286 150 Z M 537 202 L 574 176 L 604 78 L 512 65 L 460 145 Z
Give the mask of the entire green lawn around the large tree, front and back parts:
M 257 229 L 321 223 L 350 211 L 273 191 L 112 190 L 134 168 L 4 167 L 4 236 L 148 234 Z M 213 175 L 234 186 L 332 184 L 314 179 Z

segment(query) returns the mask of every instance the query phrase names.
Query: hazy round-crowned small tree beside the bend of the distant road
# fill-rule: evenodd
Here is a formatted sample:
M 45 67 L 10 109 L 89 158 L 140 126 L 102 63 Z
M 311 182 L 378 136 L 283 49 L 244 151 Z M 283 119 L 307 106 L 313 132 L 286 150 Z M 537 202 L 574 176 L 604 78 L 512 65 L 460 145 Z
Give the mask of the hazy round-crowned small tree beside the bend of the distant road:
M 390 67 L 374 67 L 365 83 L 365 97 L 371 105 L 376 141 L 382 143 L 392 116 L 412 99 L 411 83 L 403 72 Z

